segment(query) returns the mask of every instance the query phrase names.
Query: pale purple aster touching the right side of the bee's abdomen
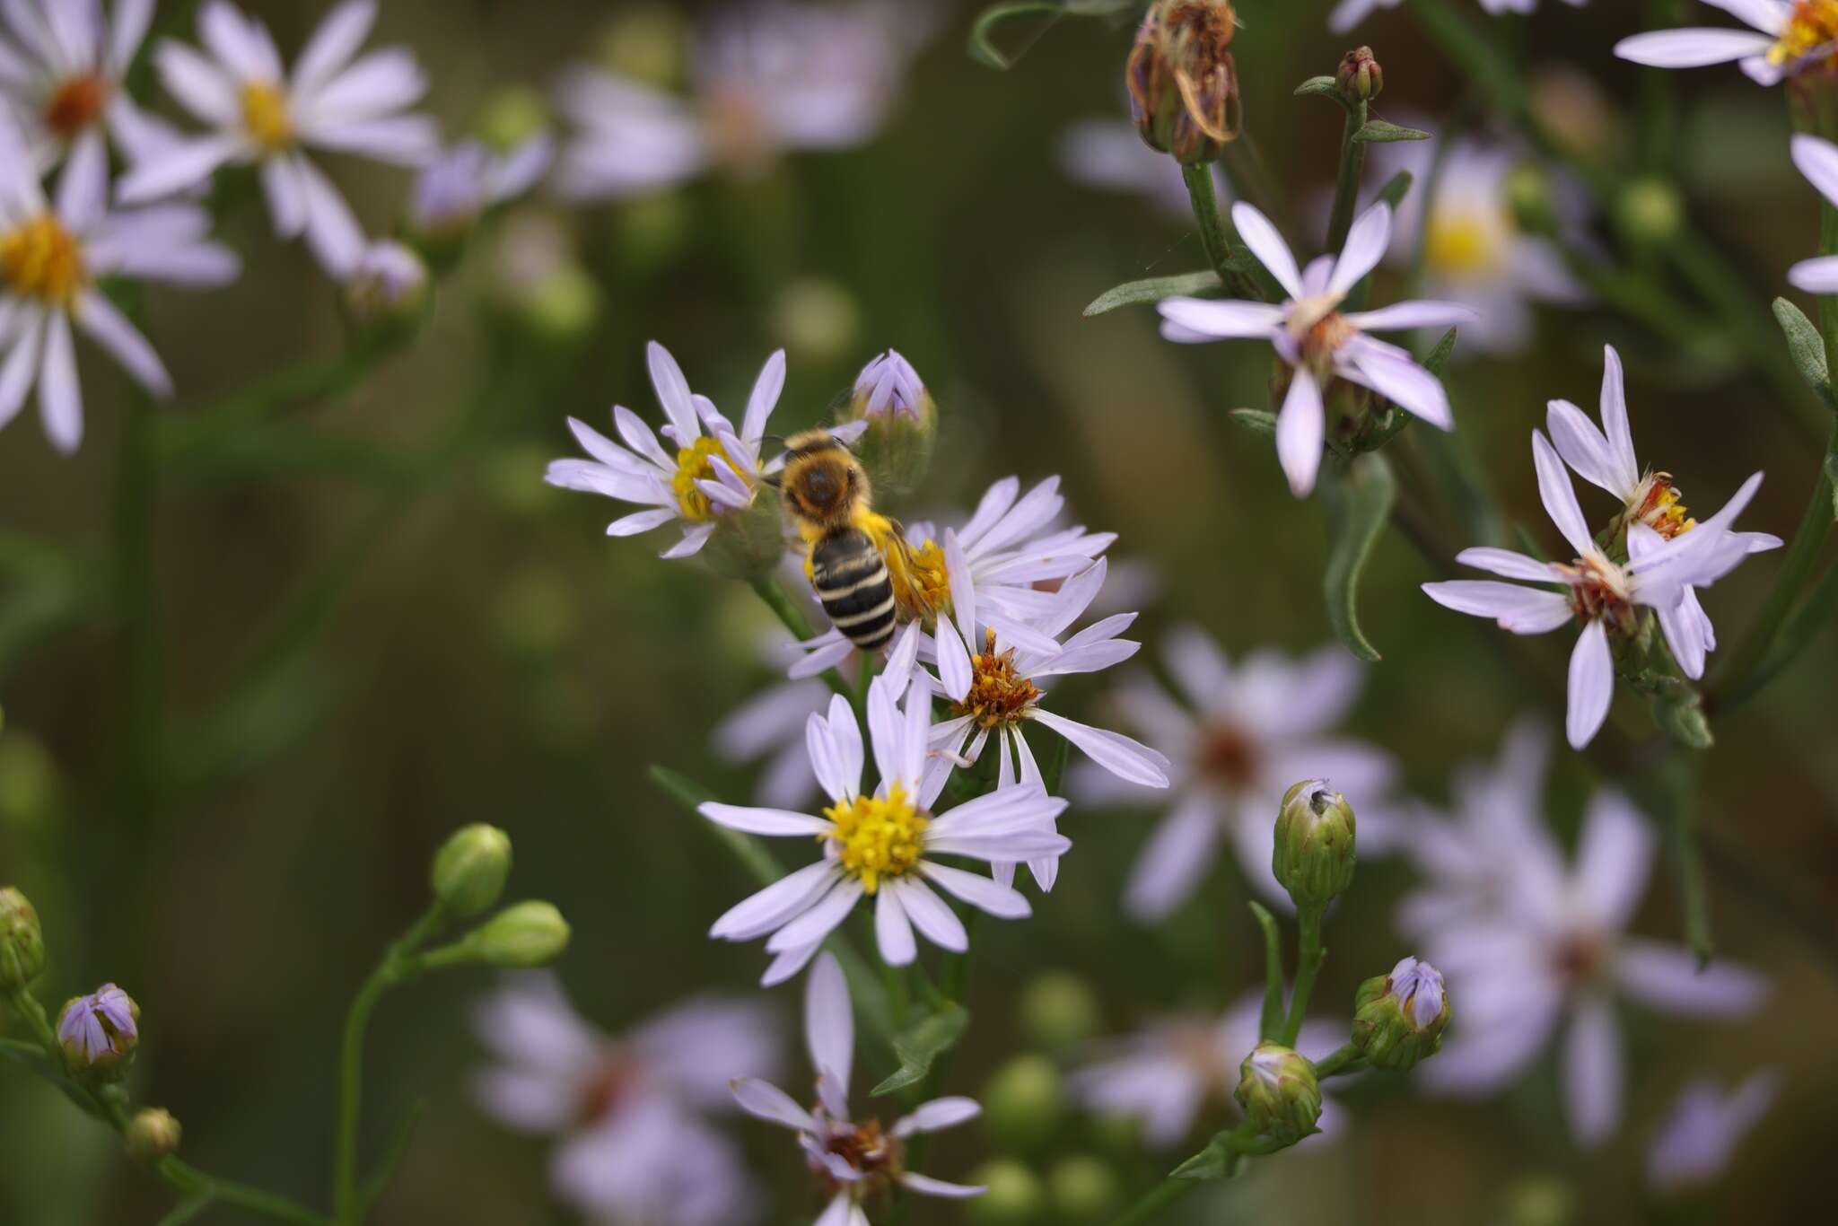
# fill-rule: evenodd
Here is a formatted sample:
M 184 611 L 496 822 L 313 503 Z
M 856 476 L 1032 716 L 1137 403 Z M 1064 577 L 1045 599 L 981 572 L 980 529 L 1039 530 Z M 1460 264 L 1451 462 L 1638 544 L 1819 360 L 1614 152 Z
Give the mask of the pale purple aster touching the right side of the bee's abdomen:
M 1059 528 L 1066 498 L 1059 493 L 1057 476 L 1026 494 L 1020 487 L 1018 478 L 1002 478 L 989 487 L 969 522 L 956 529 L 939 531 L 928 520 L 906 524 L 913 596 L 930 608 L 926 621 L 967 618 L 994 627 L 1020 647 L 1053 653 L 1057 640 L 1033 629 L 1035 621 L 1049 616 L 1055 601 L 1042 585 L 1057 585 L 1088 568 L 1118 535 L 1092 533 L 1083 526 Z M 845 660 L 855 645 L 831 627 L 805 641 L 805 658 L 790 667 L 792 676 L 816 676 Z M 921 643 L 921 656 L 936 660 L 930 636 Z

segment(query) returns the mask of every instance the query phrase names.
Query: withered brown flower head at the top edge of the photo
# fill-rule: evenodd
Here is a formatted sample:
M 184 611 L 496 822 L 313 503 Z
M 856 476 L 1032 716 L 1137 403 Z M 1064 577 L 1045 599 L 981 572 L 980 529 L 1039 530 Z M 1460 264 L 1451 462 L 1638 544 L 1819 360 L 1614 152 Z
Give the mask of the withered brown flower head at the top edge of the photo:
M 1156 0 L 1136 31 L 1123 83 L 1151 149 L 1184 165 L 1215 162 L 1244 125 L 1228 0 Z

